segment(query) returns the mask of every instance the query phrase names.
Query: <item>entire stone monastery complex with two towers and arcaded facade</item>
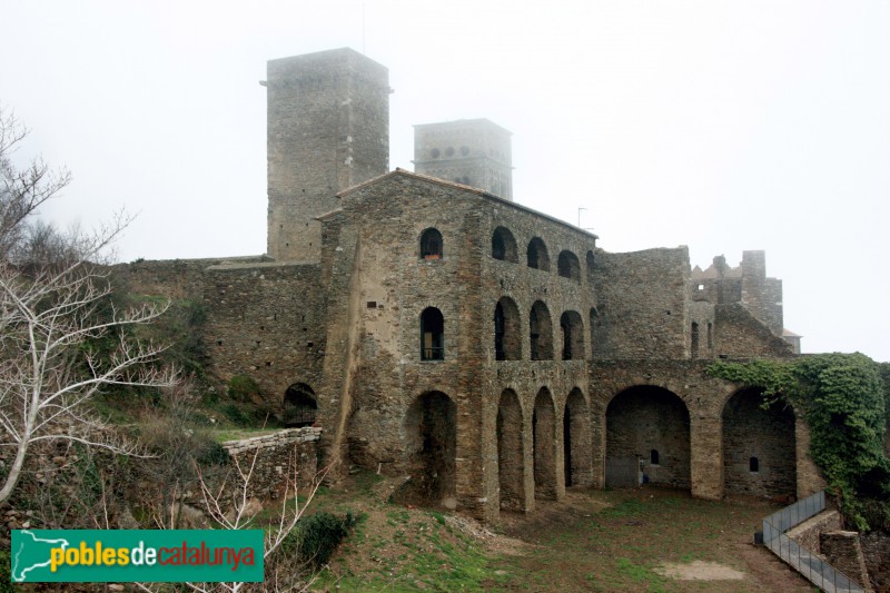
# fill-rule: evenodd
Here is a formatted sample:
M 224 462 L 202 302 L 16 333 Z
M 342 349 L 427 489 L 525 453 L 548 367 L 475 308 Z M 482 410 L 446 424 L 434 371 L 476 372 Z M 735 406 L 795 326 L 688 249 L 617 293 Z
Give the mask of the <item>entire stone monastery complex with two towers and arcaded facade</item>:
M 268 62 L 268 254 L 121 266 L 204 303 L 222 380 L 253 377 L 322 463 L 405 476 L 398 497 L 483 520 L 575 485 L 719 498 L 817 491 L 791 408 L 705 373 L 793 356 L 763 251 L 610 254 L 512 199 L 510 132 L 415 128 L 388 170 L 388 71 L 349 49 Z

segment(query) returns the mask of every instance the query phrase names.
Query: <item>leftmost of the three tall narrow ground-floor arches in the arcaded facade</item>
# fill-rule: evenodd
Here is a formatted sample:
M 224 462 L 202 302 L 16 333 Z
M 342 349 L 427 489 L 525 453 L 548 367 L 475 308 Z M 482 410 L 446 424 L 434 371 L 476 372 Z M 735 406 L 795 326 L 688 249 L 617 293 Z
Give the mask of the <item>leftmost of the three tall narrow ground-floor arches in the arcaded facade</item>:
M 525 508 L 523 472 L 523 422 L 520 398 L 513 389 L 504 389 L 497 405 L 497 484 L 501 508 Z

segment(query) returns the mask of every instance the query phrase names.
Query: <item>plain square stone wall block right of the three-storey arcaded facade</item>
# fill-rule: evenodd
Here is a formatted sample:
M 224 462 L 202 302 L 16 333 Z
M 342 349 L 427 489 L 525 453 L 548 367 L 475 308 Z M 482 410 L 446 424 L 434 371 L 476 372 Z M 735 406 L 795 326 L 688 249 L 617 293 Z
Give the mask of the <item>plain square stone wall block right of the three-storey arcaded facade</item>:
M 597 253 L 596 358 L 689 357 L 689 250 Z

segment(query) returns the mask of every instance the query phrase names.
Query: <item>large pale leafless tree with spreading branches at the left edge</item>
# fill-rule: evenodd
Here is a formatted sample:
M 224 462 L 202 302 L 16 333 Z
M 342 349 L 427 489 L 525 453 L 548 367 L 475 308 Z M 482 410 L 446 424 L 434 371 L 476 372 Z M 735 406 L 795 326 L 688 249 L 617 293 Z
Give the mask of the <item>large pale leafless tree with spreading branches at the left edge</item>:
M 152 365 L 161 347 L 128 337 L 166 305 L 119 310 L 108 299 L 108 271 L 96 265 L 129 219 L 119 215 L 92 234 L 61 235 L 30 218 L 70 177 L 40 159 L 18 169 L 11 152 L 27 130 L 0 109 L 0 504 L 12 494 L 32 446 L 68 441 L 120 453 L 136 446 L 112 437 L 87 403 L 115 385 L 161 387 L 171 372 Z M 31 254 L 24 261 L 13 254 Z M 99 309 L 102 309 L 101 313 Z M 110 310 L 109 310 L 110 309 Z M 91 344 L 117 336 L 115 347 Z M 11 447 L 13 453 L 9 453 Z

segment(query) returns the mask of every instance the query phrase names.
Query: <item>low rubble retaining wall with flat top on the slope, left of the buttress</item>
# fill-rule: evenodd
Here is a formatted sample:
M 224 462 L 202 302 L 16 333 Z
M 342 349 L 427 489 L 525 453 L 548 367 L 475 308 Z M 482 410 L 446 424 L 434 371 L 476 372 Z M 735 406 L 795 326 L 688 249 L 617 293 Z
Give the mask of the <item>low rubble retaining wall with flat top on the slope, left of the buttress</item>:
M 290 428 L 240 441 L 222 447 L 243 472 L 251 471 L 248 498 L 278 498 L 289 487 L 308 488 L 318 476 L 317 443 L 322 428 Z M 250 467 L 253 466 L 253 470 Z M 296 481 L 296 484 L 294 484 Z M 235 483 L 234 478 L 229 480 Z

